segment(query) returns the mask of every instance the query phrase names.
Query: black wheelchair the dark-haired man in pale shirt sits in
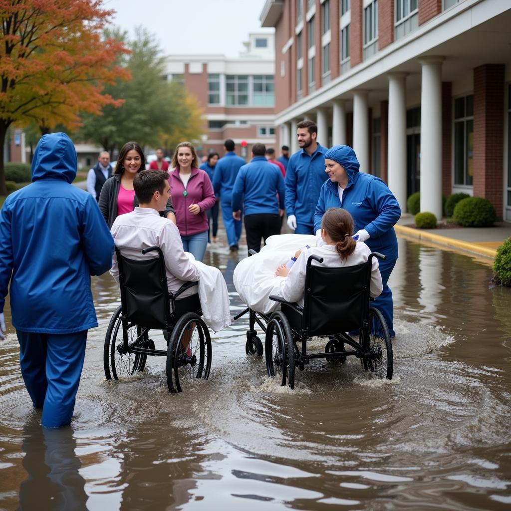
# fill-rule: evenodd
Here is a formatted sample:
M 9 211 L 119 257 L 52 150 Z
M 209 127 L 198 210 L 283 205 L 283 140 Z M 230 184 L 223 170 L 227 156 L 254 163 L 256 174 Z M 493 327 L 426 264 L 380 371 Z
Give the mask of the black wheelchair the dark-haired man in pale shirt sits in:
M 167 288 L 164 254 L 159 247 L 142 250 L 159 257 L 135 261 L 121 255 L 119 264 L 121 306 L 113 313 L 105 336 L 103 363 L 107 380 L 119 380 L 144 370 L 148 356 L 167 357 L 167 386 L 182 391 L 182 384 L 207 380 L 211 369 L 211 336 L 201 318 L 198 294 L 177 299 L 198 286 L 187 282 L 178 291 Z M 166 350 L 149 338 L 151 329 L 162 330 Z

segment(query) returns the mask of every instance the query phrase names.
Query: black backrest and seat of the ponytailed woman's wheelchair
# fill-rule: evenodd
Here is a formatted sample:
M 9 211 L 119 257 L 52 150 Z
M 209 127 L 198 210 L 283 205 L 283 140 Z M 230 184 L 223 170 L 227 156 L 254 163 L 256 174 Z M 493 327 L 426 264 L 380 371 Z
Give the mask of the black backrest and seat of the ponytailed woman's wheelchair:
M 303 314 L 282 304 L 291 328 L 308 337 L 359 329 L 369 307 L 370 264 L 325 268 L 307 263 Z

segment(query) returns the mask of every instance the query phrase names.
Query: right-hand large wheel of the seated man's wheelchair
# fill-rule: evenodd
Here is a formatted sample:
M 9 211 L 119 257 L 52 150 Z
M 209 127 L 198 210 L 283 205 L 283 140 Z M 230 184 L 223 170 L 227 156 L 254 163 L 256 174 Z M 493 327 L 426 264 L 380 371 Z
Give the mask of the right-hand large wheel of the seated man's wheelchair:
M 184 347 L 186 345 L 187 347 Z M 204 321 L 189 312 L 179 318 L 170 336 L 167 352 L 167 385 L 181 392 L 181 384 L 207 380 L 211 369 L 211 337 Z M 172 382 L 174 374 L 175 389 Z

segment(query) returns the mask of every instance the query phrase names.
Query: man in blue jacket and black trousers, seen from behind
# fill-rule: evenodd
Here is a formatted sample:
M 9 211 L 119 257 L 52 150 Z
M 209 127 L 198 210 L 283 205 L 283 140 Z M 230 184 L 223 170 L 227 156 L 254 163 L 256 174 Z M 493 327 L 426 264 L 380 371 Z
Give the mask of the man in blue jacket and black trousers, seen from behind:
M 233 217 L 240 219 L 243 201 L 248 250 L 256 252 L 261 249 L 261 238 L 266 243 L 266 238 L 281 233 L 284 214 L 284 178 L 265 153 L 264 144 L 253 145 L 252 159 L 240 169 L 233 189 Z

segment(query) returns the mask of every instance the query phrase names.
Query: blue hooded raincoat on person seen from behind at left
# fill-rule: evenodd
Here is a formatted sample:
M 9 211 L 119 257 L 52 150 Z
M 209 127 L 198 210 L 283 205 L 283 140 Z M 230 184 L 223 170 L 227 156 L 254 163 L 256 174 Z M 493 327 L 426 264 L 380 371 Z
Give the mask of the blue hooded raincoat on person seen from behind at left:
M 90 275 L 111 267 L 113 239 L 94 197 L 71 184 L 76 168 L 71 139 L 44 135 L 32 183 L 9 195 L 0 211 L 0 311 L 12 275 L 12 323 L 20 332 L 98 326 Z

